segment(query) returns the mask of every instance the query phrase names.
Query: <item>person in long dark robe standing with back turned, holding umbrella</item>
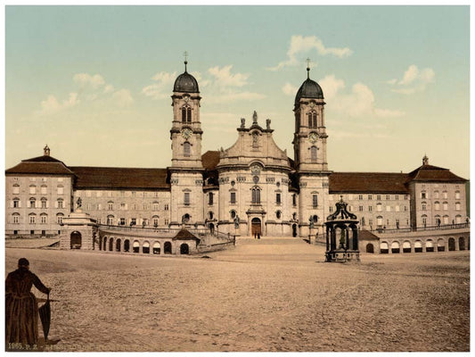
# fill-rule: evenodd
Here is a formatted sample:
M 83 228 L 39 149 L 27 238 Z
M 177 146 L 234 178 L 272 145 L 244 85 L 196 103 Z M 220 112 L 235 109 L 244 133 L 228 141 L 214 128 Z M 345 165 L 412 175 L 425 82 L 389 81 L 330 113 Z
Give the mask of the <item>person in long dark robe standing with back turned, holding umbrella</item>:
M 31 286 L 44 294 L 50 289 L 29 271 L 29 261 L 21 258 L 18 269 L 8 274 L 5 281 L 5 346 L 21 344 L 37 345 L 38 342 L 38 305 L 37 298 L 31 293 Z

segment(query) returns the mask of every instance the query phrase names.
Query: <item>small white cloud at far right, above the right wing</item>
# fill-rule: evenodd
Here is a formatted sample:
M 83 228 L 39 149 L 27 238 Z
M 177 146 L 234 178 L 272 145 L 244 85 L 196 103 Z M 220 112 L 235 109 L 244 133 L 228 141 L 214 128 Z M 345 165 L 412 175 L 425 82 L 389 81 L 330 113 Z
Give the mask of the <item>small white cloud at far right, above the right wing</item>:
M 391 79 L 387 83 L 391 86 L 397 86 L 392 89 L 393 92 L 403 95 L 412 95 L 415 92 L 422 92 L 428 84 L 435 82 L 436 73 L 431 68 L 419 70 L 415 64 L 411 64 L 403 74 L 400 80 Z

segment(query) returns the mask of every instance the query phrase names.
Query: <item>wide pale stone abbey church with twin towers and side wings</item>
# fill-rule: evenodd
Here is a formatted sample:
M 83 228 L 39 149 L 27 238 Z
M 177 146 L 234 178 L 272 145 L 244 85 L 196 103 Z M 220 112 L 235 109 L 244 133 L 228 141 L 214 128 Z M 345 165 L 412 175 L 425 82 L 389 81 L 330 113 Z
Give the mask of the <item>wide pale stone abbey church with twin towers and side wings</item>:
M 342 197 L 367 230 L 464 223 L 465 183 L 450 170 L 409 173 L 328 169 L 323 90 L 309 77 L 293 104 L 293 158 L 275 144 L 270 120 L 241 120 L 233 145 L 201 153 L 201 96 L 186 70 L 172 99 L 171 165 L 164 169 L 68 166 L 44 154 L 5 171 L 7 237 L 61 234 L 80 198 L 101 225 L 206 228 L 236 236 L 324 233 Z

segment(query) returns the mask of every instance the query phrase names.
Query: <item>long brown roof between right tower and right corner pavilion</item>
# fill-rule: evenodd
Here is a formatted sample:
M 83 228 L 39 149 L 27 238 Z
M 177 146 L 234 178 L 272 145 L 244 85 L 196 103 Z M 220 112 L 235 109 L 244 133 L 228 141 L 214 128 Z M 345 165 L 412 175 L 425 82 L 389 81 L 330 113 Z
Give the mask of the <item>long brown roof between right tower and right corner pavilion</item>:
M 408 194 L 407 174 L 393 172 L 332 172 L 331 194 L 337 193 L 394 193 Z

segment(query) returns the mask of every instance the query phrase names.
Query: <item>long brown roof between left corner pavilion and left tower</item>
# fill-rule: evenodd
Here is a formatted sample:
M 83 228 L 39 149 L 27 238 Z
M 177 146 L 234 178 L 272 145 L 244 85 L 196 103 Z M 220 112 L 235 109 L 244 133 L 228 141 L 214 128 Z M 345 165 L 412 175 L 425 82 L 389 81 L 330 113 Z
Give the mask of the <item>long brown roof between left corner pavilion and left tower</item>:
M 77 188 L 169 189 L 167 169 L 72 166 Z

